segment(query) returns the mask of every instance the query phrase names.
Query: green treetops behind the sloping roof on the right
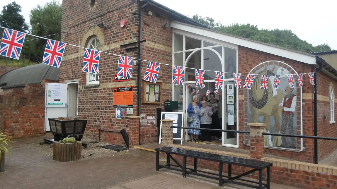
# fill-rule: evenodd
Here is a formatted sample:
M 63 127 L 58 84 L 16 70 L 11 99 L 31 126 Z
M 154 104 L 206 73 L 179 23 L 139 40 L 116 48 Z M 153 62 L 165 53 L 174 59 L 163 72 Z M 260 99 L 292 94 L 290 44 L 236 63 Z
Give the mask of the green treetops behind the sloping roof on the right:
M 193 15 L 192 19 L 223 33 L 237 35 L 288 49 L 299 50 L 308 53 L 333 50 L 328 44 L 325 43 L 313 46 L 307 41 L 301 40 L 291 30 L 259 30 L 257 26 L 250 24 L 232 24 L 224 26 L 220 22 L 214 23 L 215 21 L 213 18 L 203 18 L 197 14 Z

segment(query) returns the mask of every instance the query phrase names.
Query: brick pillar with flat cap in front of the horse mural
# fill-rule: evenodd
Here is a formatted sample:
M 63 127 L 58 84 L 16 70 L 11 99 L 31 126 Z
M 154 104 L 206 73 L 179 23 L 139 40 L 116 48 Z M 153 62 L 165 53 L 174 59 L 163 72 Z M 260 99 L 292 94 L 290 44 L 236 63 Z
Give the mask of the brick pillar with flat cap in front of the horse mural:
M 265 157 L 265 139 L 262 135 L 264 123 L 248 123 L 250 126 L 250 159 L 261 160 Z

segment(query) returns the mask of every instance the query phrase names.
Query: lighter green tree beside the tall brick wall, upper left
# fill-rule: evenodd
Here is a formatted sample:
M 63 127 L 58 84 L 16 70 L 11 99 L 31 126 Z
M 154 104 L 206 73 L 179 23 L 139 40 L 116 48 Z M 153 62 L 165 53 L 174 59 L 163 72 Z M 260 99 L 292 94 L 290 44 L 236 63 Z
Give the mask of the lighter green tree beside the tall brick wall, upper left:
M 37 5 L 31 10 L 29 18 L 31 34 L 48 36 L 46 38 L 57 41 L 61 40 L 62 4 L 53 0 L 46 3 L 44 6 Z M 47 40 L 41 38 L 27 41 L 27 53 L 31 57 L 41 59 L 46 43 Z

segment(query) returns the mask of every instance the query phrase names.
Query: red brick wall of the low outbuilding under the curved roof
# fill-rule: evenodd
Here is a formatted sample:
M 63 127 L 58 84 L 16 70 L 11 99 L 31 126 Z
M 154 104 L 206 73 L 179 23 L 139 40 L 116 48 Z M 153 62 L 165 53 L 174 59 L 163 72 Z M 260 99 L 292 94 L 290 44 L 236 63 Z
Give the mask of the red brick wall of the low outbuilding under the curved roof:
M 44 85 L 4 89 L 5 132 L 13 138 L 25 138 L 44 131 Z

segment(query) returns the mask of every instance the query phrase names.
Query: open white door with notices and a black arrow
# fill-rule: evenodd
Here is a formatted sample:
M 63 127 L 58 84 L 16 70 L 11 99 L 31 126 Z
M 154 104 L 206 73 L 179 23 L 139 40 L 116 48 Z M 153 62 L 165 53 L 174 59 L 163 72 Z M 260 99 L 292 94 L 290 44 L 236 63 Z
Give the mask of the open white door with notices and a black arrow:
M 50 131 L 48 118 L 67 117 L 68 84 L 45 84 L 44 130 Z

